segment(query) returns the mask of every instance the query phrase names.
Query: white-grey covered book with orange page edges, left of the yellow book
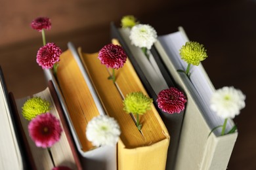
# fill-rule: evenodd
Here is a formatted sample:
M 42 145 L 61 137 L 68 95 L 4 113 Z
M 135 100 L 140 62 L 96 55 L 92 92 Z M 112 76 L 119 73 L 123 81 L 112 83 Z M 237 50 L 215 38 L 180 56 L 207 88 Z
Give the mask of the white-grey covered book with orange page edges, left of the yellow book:
M 117 169 L 116 146 L 95 147 L 85 136 L 88 122 L 106 113 L 71 42 L 60 56 L 56 79 L 51 71 L 46 71 L 45 75 L 54 82 L 83 168 Z

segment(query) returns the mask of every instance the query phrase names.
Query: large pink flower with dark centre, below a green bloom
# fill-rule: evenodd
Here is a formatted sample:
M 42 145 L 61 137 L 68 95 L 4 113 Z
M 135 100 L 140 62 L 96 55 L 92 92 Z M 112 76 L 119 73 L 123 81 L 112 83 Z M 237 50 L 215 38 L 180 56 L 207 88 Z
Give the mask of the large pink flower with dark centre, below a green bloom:
M 60 121 L 47 112 L 33 118 L 28 124 L 28 132 L 37 147 L 50 148 L 60 140 Z

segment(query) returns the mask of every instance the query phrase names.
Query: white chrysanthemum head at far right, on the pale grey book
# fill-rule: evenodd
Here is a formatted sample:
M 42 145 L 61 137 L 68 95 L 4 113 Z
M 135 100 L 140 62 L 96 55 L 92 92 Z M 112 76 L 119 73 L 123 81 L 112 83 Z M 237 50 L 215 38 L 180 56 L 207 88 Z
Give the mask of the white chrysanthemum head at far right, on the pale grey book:
M 213 93 L 210 107 L 222 118 L 234 118 L 245 107 L 245 95 L 232 86 L 223 87 Z

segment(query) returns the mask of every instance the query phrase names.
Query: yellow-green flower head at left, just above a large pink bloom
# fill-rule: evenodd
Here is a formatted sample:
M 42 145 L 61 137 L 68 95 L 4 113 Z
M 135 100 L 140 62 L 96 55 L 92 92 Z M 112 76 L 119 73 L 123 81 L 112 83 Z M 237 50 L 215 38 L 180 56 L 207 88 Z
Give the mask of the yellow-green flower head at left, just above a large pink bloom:
M 41 97 L 33 97 L 28 99 L 22 107 L 22 115 L 27 120 L 32 120 L 35 116 L 49 112 L 51 110 L 49 101 L 41 99 Z

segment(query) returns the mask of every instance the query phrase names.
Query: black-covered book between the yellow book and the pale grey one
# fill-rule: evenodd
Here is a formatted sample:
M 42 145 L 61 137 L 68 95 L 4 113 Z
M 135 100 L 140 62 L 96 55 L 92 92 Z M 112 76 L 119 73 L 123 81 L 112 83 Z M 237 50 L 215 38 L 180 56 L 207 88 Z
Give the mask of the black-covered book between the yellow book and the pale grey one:
M 110 24 L 112 39 L 118 39 L 123 46 L 128 58 L 130 59 L 137 75 L 139 76 L 144 88 L 154 100 L 154 105 L 160 113 L 167 130 L 171 134 L 171 142 L 168 148 L 166 169 L 173 169 L 179 146 L 179 137 L 181 134 L 183 111 L 179 114 L 167 114 L 158 108 L 156 102 L 158 93 L 161 90 L 177 86 L 171 77 L 169 71 L 163 65 L 160 55 L 154 46 L 150 50 L 150 61 L 146 59 L 139 47 L 133 46 L 129 40 L 129 29 L 117 28 L 112 22 Z M 154 69 L 152 69 L 154 67 Z

